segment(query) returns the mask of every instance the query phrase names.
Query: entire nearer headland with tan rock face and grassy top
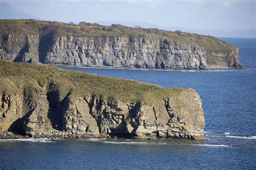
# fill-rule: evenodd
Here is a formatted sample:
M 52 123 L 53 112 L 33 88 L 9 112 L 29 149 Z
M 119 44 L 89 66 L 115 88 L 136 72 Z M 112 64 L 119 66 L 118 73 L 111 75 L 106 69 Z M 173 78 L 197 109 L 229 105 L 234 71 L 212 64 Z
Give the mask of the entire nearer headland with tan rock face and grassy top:
M 0 138 L 203 138 L 193 89 L 9 61 L 0 77 Z

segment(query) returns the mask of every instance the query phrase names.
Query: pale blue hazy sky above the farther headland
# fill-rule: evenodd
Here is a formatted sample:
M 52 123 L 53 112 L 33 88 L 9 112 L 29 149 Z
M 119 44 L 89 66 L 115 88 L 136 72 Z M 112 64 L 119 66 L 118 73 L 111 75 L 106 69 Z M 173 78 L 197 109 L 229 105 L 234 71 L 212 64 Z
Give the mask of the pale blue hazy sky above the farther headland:
M 256 0 L 0 0 L 44 20 L 148 22 L 189 29 L 255 29 Z

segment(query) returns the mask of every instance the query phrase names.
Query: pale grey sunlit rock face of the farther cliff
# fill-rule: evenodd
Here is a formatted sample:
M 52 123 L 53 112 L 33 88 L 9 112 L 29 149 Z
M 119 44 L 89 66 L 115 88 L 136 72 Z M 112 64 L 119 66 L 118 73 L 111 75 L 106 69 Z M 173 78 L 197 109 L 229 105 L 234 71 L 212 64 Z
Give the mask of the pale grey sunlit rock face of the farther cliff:
M 99 43 L 98 43 L 99 42 Z M 204 69 L 206 55 L 196 45 L 145 36 L 93 38 L 58 37 L 44 63 L 89 67 Z

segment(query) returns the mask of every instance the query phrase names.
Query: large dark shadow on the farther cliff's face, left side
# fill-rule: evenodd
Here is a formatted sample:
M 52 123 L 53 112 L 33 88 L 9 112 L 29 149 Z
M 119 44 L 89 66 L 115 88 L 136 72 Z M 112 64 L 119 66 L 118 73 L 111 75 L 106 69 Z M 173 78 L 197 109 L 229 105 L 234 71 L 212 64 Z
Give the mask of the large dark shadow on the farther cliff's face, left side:
M 53 45 L 53 34 L 45 34 L 40 38 L 38 53 L 39 62 L 45 63 L 46 55 L 49 52 L 50 47 Z

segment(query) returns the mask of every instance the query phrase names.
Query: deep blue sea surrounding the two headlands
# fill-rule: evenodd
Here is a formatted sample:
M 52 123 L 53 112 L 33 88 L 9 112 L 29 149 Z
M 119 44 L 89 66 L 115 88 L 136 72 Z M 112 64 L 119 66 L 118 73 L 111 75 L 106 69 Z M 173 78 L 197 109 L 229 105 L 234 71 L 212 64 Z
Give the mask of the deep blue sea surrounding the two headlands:
M 207 140 L 2 139 L 0 169 L 255 169 L 256 39 L 221 38 L 239 46 L 247 69 L 173 71 L 61 67 L 196 89 Z

